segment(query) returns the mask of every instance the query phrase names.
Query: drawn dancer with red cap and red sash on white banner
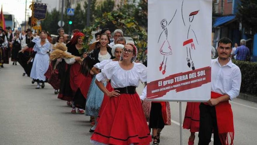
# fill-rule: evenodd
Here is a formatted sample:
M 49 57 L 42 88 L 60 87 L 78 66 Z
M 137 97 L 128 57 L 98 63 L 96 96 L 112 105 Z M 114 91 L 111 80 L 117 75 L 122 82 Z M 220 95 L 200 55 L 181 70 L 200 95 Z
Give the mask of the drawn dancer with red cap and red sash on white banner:
M 182 2 L 182 6 L 181 6 L 181 11 L 182 11 L 182 19 L 183 19 L 183 23 L 185 25 L 185 21 L 184 21 L 184 18 L 183 18 L 183 2 Z M 198 41 L 197 41 L 197 37 L 195 35 L 195 31 L 191 28 L 191 24 L 194 20 L 194 17 L 195 15 L 199 12 L 199 10 L 197 11 L 193 11 L 189 14 L 189 27 L 188 27 L 188 30 L 187 30 L 187 40 L 183 42 L 183 46 L 185 46 L 187 48 L 187 66 L 190 68 L 191 67 L 191 64 L 192 64 L 192 70 L 195 70 L 195 65 L 194 65 L 194 62 L 192 60 L 192 56 L 191 56 L 191 49 L 194 49 L 195 50 L 195 44 L 194 44 L 194 40 L 193 38 L 190 38 L 188 37 L 189 34 L 194 34 L 195 36 L 195 40 L 197 42 L 197 44 L 199 45 Z M 185 25 L 186 26 L 186 25 Z M 190 49 L 191 48 L 191 49 Z M 189 55 L 188 55 L 189 54 Z M 192 62 L 190 62 L 192 61 Z

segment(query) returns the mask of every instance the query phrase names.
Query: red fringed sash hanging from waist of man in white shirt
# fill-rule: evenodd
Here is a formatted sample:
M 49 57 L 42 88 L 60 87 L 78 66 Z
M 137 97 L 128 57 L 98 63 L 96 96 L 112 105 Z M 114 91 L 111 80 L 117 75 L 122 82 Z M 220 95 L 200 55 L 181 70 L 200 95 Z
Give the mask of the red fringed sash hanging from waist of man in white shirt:
M 215 99 L 222 94 L 211 92 L 211 98 Z M 233 145 L 234 140 L 234 122 L 233 122 L 233 112 L 231 109 L 231 105 L 228 101 L 218 103 L 215 106 L 216 117 L 217 117 L 217 126 L 218 133 L 220 137 L 220 141 L 222 145 Z M 229 141 L 229 137 L 230 141 Z M 230 142 L 230 143 L 229 143 Z

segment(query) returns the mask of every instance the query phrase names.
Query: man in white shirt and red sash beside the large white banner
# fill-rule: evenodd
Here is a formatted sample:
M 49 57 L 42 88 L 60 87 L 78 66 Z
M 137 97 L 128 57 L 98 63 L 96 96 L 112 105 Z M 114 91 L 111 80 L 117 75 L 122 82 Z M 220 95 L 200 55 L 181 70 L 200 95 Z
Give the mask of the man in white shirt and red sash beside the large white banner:
M 217 51 L 218 58 L 211 61 L 211 99 L 199 106 L 198 145 L 208 145 L 212 132 L 214 145 L 233 144 L 233 113 L 228 101 L 239 95 L 241 71 L 230 59 L 232 41 L 229 38 L 219 40 Z

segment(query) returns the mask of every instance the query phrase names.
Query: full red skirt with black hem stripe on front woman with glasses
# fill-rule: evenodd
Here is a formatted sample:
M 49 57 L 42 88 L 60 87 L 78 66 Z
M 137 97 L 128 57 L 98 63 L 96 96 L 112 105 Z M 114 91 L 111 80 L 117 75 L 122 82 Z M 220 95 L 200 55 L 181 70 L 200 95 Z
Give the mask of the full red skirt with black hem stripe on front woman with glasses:
M 111 97 L 91 140 L 112 145 L 148 145 L 152 141 L 138 94 Z

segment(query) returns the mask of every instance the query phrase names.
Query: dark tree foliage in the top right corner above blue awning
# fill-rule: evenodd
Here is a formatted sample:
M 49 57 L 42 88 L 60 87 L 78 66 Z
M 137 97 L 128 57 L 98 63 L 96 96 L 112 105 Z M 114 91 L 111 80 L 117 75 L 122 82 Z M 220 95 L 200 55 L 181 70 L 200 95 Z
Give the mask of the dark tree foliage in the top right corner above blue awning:
M 237 18 L 242 21 L 244 28 L 251 28 L 253 33 L 257 33 L 257 1 L 240 0 L 240 2 Z

